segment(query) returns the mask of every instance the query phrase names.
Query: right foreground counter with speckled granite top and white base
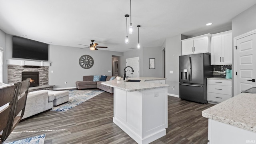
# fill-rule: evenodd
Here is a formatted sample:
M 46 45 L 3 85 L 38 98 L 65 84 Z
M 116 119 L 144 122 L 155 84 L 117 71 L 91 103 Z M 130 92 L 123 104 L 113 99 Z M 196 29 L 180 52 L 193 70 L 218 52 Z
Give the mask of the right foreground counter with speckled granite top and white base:
M 202 116 L 208 118 L 208 144 L 256 143 L 256 94 L 238 94 Z

